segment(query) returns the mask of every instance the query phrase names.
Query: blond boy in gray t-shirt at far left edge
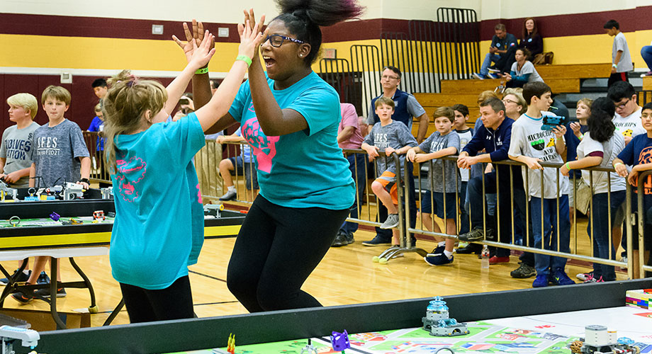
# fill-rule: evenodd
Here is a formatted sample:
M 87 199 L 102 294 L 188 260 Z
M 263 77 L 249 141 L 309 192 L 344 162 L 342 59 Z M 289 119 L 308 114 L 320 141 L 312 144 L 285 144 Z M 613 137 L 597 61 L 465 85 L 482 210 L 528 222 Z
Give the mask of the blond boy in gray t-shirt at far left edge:
M 38 111 L 38 101 L 29 93 L 16 93 L 7 98 L 9 120 L 16 125 L 2 133 L 0 142 L 0 180 L 11 188 L 29 186 L 32 135 L 38 128 L 33 121 Z

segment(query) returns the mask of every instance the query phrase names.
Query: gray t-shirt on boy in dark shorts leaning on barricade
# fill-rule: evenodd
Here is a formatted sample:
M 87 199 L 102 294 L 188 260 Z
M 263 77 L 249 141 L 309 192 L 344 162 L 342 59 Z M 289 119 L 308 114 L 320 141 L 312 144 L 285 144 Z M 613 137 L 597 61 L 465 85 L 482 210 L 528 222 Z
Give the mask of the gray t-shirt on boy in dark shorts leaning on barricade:
M 426 154 L 431 152 L 438 152 L 447 147 L 454 147 L 459 153 L 460 142 L 457 132 L 449 132 L 442 136 L 439 132 L 434 132 L 432 135 L 425 139 L 420 145 L 419 149 Z M 444 192 L 444 180 L 446 184 L 446 193 L 455 193 L 461 183 L 459 173 L 457 172 L 456 161 L 434 159 L 430 163 L 426 162 L 427 166 L 431 167 L 428 171 L 428 178 L 432 181 L 434 187 L 433 192 Z

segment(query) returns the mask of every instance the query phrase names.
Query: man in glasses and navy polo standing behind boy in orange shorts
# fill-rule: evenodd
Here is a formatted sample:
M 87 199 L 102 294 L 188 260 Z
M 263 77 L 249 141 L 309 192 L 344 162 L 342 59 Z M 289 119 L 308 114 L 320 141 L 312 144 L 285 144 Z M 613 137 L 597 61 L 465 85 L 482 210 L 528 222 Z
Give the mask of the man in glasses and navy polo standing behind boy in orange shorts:
M 394 101 L 394 114 L 392 119 L 408 126 L 410 131 L 412 130 L 412 120 L 417 118 L 419 120 L 419 130 L 417 132 L 417 142 L 423 142 L 425 139 L 426 133 L 428 131 L 428 115 L 423 107 L 417 102 L 415 96 L 412 96 L 410 93 L 405 91 L 400 91 L 398 85 L 400 84 L 400 70 L 397 67 L 385 67 L 383 68 L 383 74 L 381 76 L 381 85 L 383 86 L 383 94 L 381 96 L 389 97 Z M 369 116 L 367 117 L 366 123 L 369 125 L 369 131 L 371 127 L 377 122 L 380 122 L 381 119 L 376 115 L 375 103 L 378 98 L 373 98 L 371 100 L 371 108 L 369 109 Z M 409 208 L 410 208 L 410 227 L 414 228 L 417 222 L 417 202 L 415 198 L 415 178 L 412 175 L 412 163 L 406 162 L 405 168 L 408 169 L 409 178 L 409 188 L 408 188 L 408 199 L 409 199 Z M 380 205 L 378 210 L 378 217 L 380 220 L 387 218 L 387 209 Z M 414 245 L 414 236 L 412 236 L 412 245 Z M 392 239 L 392 230 L 390 229 L 380 229 L 376 227 L 376 237 L 370 241 L 363 241 L 364 246 L 384 246 L 391 244 Z

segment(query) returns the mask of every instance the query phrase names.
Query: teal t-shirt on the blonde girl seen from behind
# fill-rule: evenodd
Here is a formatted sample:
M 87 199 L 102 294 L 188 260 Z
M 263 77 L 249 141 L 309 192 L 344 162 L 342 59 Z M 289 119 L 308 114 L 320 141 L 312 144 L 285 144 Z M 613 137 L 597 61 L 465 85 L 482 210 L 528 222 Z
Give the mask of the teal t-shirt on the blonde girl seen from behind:
M 110 260 L 118 282 L 164 289 L 197 262 L 203 207 L 191 160 L 204 144 L 194 113 L 116 137 Z

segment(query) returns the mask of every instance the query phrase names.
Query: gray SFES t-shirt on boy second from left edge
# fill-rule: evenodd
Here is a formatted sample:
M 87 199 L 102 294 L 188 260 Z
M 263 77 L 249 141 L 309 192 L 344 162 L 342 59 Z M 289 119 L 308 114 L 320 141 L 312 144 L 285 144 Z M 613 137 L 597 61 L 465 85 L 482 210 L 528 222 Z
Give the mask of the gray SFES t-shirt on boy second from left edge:
M 81 178 L 79 157 L 88 157 L 79 125 L 64 120 L 54 127 L 47 124 L 35 130 L 32 142 L 32 160 L 36 165 L 37 187 L 64 185 Z

